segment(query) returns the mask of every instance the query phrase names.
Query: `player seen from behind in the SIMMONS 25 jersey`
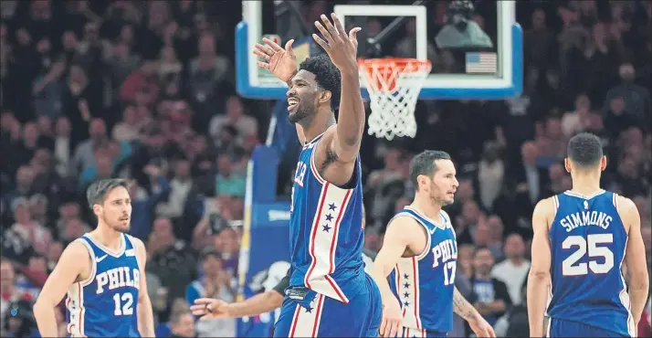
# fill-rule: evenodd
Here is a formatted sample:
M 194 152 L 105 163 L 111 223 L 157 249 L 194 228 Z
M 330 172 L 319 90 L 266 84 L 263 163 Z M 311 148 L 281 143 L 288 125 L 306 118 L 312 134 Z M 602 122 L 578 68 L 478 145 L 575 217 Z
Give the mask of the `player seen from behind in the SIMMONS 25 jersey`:
M 595 135 L 573 136 L 564 164 L 573 189 L 543 199 L 532 215 L 530 336 L 543 336 L 547 301 L 549 337 L 635 337 L 649 283 L 638 210 L 600 188 L 606 157 Z

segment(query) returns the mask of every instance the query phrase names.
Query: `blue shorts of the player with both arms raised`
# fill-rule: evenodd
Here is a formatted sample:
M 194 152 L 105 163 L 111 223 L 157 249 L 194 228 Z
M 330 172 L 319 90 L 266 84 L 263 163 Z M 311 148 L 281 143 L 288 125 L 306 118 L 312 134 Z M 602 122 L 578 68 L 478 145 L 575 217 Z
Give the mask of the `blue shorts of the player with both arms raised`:
M 281 306 L 275 337 L 377 337 L 383 317 L 380 290 L 369 275 L 366 288 L 348 303 L 320 293 L 301 306 L 286 297 Z

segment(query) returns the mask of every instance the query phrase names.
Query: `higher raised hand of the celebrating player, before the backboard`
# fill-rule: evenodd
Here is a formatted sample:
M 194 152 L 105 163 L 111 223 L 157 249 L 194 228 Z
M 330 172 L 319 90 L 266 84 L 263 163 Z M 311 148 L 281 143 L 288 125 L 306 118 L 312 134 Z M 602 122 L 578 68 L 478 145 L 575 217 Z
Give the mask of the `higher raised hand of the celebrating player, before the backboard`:
M 349 31 L 349 34 L 346 34 L 340 19 L 334 13 L 331 14 L 331 18 L 332 24 L 331 20 L 324 15 L 321 15 L 323 25 L 319 21 L 315 21 L 315 26 L 320 30 L 321 36 L 326 41 L 317 34 L 313 34 L 312 38 L 315 39 L 321 48 L 324 48 L 329 58 L 331 58 L 333 65 L 340 69 L 340 71 L 355 70 L 357 72 L 358 38 L 356 35 L 362 28 L 354 27 Z

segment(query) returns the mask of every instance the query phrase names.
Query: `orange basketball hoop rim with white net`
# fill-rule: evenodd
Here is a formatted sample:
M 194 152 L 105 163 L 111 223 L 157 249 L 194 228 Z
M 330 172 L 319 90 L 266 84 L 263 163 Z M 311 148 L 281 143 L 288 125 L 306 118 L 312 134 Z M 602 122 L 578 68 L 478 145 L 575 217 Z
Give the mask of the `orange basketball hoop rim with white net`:
M 358 66 L 371 99 L 369 134 L 387 140 L 415 137 L 416 99 L 430 74 L 430 61 L 370 58 L 358 61 Z

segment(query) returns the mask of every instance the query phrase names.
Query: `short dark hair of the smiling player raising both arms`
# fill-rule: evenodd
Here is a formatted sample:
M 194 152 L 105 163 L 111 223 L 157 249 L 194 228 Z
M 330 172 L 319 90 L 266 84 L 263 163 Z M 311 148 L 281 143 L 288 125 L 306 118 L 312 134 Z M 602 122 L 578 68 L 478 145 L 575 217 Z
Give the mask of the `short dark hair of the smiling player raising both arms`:
M 340 69 L 332 64 L 331 58 L 327 54 L 306 58 L 299 65 L 299 69 L 310 71 L 315 75 L 315 81 L 323 90 L 331 91 L 331 109 L 336 111 L 340 107 L 342 77 Z

